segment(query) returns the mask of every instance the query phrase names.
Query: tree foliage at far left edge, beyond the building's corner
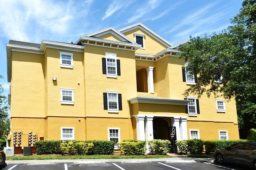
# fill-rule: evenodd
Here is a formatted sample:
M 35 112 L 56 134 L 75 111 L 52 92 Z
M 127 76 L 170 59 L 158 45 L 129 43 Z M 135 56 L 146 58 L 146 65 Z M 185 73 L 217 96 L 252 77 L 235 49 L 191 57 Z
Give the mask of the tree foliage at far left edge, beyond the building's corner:
M 2 75 L 0 75 L 0 78 L 3 78 Z M 2 95 L 4 92 L 4 88 L 0 84 L 0 138 L 4 135 L 6 135 L 6 132 L 8 131 L 7 127 L 9 122 L 9 105 L 8 105 L 8 98 L 4 95 Z

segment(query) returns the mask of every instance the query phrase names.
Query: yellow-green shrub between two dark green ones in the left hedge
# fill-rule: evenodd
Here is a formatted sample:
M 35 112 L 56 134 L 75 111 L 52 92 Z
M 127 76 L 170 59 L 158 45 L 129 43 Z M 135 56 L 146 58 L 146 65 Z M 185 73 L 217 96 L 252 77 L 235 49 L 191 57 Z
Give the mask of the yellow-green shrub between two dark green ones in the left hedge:
M 83 141 L 68 141 L 60 144 L 61 154 L 86 155 L 92 153 L 93 143 Z

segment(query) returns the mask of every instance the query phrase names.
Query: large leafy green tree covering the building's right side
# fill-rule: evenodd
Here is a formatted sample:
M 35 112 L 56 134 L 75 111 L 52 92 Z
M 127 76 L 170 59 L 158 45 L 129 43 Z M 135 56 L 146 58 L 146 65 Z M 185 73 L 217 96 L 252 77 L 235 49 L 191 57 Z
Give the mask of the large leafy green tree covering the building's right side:
M 198 75 L 197 84 L 184 95 L 235 97 L 244 139 L 256 127 L 256 0 L 244 0 L 231 23 L 222 33 L 190 37 L 178 56 L 189 62 L 188 72 Z

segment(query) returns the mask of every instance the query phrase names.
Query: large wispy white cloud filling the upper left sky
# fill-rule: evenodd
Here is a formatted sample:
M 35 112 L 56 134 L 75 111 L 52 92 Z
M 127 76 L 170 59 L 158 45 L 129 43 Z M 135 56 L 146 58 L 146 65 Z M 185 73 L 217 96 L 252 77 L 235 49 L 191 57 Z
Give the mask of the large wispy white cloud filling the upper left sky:
M 74 24 L 78 24 L 76 21 L 79 17 L 86 18 L 92 2 L 93 0 L 69 0 L 64 3 L 51 0 L 0 0 L 0 34 L 8 39 L 29 42 L 35 42 L 36 38 L 41 41 L 46 34 L 67 34 Z

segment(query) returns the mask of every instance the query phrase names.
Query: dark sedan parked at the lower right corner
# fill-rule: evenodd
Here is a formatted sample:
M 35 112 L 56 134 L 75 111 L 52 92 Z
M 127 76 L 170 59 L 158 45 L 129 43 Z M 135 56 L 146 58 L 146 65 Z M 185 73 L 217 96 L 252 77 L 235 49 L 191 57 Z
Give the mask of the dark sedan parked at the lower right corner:
M 256 170 L 256 142 L 240 142 L 218 149 L 214 154 L 215 162 L 223 164 L 224 162 L 232 162 L 236 164 L 244 164 Z

